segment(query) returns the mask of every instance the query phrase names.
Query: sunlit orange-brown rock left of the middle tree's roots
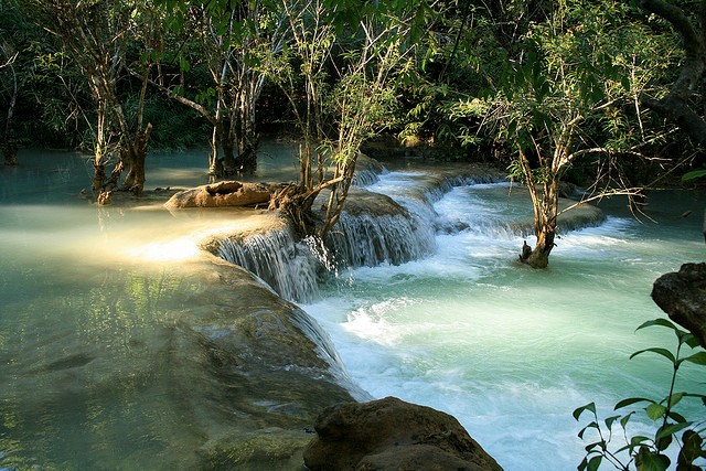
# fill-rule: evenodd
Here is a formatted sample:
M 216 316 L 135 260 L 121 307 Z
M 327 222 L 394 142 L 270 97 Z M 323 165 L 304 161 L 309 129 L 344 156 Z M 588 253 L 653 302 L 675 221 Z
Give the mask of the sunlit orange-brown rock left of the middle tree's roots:
M 164 203 L 164 206 L 170 210 L 181 207 L 253 206 L 267 203 L 270 195 L 269 186 L 263 183 L 223 181 L 175 193 Z

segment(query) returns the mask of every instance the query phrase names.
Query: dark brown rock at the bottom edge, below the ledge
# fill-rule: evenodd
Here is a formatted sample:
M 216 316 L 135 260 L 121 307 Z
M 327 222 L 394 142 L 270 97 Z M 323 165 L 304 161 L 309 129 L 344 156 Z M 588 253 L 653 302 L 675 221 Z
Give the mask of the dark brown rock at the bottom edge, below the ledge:
M 502 470 L 456 418 L 396 397 L 329 407 L 314 429 L 312 471 Z

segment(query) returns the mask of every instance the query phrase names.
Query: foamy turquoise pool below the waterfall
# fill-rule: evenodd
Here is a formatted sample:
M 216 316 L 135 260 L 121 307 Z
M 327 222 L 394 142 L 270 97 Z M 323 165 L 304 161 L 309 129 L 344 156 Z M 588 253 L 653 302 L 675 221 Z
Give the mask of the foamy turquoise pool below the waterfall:
M 375 188 L 395 197 L 409 183 L 391 180 L 404 176 Z M 526 196 L 506 184 L 457 188 L 434 206 L 434 255 L 341 274 L 304 309 L 374 397 L 452 414 L 505 470 L 576 469 L 588 445 L 577 432 L 589 420 L 577 422 L 575 408 L 595 400 L 606 418 L 622 398 L 667 392 L 666 362 L 629 356 L 673 347 L 671 334 L 635 328 L 664 315 L 652 282 L 704 259 L 700 221 L 681 218 L 678 205 L 703 200 L 656 207 L 659 224 L 614 204 L 599 226 L 563 234 L 549 269 L 537 271 L 515 261 L 523 237 L 510 228 L 531 216 Z M 703 394 L 700 379 L 681 387 Z M 650 431 L 635 422 L 633 435 Z

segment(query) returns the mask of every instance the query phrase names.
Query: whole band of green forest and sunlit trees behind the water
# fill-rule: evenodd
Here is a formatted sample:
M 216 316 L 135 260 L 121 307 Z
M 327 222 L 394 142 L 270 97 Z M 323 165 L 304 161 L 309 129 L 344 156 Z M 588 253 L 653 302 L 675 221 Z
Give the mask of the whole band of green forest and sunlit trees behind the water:
M 704 172 L 705 24 L 691 0 L 2 0 L 0 141 L 7 164 L 86 150 L 109 202 L 142 192 L 148 149 L 207 146 L 227 176 L 291 136 L 300 179 L 274 206 L 321 236 L 375 139 L 491 161 L 527 183 L 546 266 L 566 182 L 639 211 Z

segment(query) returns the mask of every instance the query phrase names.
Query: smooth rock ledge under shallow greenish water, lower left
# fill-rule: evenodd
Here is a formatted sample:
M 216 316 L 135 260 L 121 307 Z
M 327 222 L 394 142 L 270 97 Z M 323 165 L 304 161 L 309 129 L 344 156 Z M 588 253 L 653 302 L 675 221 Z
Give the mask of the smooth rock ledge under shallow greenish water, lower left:
M 323 408 L 368 398 L 317 322 L 239 267 L 204 253 L 99 274 L 47 291 L 71 322 L 0 351 L 0 414 L 28 443 L 0 468 L 289 471 Z M 15 312 L 42 325 L 35 309 Z

